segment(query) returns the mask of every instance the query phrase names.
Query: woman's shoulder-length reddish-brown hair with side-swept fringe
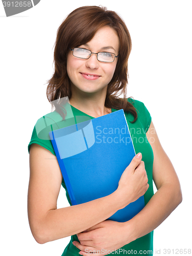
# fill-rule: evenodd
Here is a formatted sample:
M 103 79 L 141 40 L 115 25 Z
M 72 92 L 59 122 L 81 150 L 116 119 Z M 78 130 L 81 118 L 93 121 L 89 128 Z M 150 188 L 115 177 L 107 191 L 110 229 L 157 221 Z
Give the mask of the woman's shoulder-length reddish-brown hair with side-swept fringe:
M 134 106 L 127 101 L 126 87 L 128 83 L 128 58 L 131 52 L 131 37 L 122 20 L 114 11 L 108 11 L 105 7 L 84 6 L 71 12 L 57 30 L 57 38 L 54 50 L 55 72 L 49 82 L 46 95 L 47 99 L 54 100 L 68 97 L 70 100 L 70 79 L 67 75 L 67 54 L 69 48 L 79 47 L 89 42 L 95 33 L 102 27 L 113 28 L 119 38 L 120 49 L 114 75 L 107 87 L 105 100 L 106 108 L 123 109 L 129 111 L 137 119 Z M 123 94 L 123 98 L 119 95 Z M 56 111 L 65 118 L 61 106 L 55 105 Z M 60 110 L 59 110 L 60 109 Z

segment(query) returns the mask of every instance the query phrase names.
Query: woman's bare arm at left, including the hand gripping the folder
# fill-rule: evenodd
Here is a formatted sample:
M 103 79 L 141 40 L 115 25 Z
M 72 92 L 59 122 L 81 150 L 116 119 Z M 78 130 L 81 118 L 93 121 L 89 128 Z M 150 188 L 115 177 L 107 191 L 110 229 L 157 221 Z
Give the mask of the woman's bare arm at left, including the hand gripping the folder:
M 35 240 L 38 243 L 46 243 L 82 232 L 108 219 L 118 209 L 124 208 L 145 194 L 148 179 L 145 168 L 142 168 L 141 158 L 133 158 L 123 177 L 118 188 L 107 197 L 57 209 L 57 198 L 62 182 L 57 158 L 42 146 L 32 144 L 28 216 Z

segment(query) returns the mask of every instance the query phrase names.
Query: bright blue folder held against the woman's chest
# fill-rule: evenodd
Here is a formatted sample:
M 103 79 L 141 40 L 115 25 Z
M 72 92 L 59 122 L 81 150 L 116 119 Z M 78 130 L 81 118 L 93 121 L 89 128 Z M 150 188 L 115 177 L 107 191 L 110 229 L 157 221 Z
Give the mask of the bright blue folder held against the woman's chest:
M 72 205 L 113 193 L 135 156 L 123 110 L 49 133 Z M 126 222 L 145 206 L 144 197 L 109 220 Z

